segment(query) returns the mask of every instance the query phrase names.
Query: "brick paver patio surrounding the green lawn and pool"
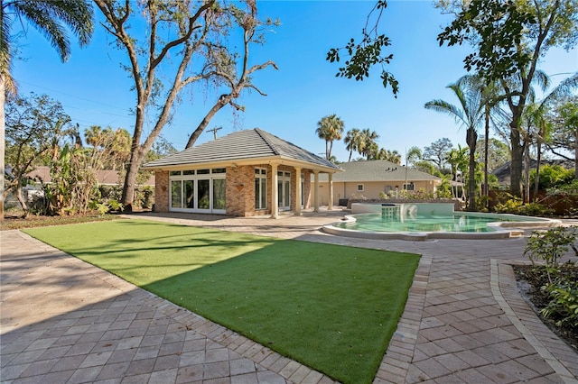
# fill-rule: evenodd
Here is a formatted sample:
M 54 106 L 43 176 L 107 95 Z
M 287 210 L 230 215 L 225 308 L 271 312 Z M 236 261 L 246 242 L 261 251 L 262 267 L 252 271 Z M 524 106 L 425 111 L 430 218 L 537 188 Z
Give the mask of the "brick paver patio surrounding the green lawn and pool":
M 126 217 L 422 254 L 374 383 L 578 383 L 578 353 L 517 293 L 510 265 L 526 262 L 526 237 L 407 242 L 320 231 L 342 215 Z M 0 240 L 3 383 L 333 382 L 20 231 Z

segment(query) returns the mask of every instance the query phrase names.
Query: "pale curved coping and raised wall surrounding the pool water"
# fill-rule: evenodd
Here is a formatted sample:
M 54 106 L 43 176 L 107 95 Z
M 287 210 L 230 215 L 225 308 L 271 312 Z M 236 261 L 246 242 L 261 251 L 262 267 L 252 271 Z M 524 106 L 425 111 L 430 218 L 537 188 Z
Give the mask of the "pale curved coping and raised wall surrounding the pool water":
M 351 214 L 381 213 L 382 215 L 417 215 L 417 212 L 427 212 L 432 215 L 453 215 L 453 204 L 448 203 L 409 203 L 409 204 L 362 204 L 353 203 Z M 496 222 L 489 223 L 488 226 L 494 229 L 493 232 L 471 233 L 471 232 L 370 232 L 358 231 L 349 228 L 341 228 L 333 224 L 324 225 L 322 230 L 325 233 L 336 234 L 346 237 L 372 240 L 407 240 L 413 242 L 433 240 L 433 239 L 463 239 L 463 240 L 490 240 L 508 239 L 517 237 L 524 233 L 525 229 L 548 228 L 560 226 L 560 220 L 546 219 L 543 217 L 519 216 L 510 214 L 490 214 L 480 212 L 460 212 L 460 215 L 481 216 L 496 218 Z M 516 221 L 503 221 L 504 219 Z M 339 224 L 355 224 L 354 215 L 346 215 Z M 338 224 L 338 223 L 335 223 Z

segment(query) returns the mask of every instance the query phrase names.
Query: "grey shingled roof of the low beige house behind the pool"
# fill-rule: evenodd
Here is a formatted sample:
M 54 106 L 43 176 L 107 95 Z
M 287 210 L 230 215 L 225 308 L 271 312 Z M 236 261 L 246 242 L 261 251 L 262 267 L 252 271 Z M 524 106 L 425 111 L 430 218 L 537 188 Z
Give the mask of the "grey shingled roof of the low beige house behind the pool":
M 441 178 L 407 168 L 387 160 L 351 161 L 340 164 L 344 172 L 333 176 L 333 182 L 369 182 L 369 181 L 423 181 Z M 327 175 L 319 175 L 319 181 L 328 181 Z

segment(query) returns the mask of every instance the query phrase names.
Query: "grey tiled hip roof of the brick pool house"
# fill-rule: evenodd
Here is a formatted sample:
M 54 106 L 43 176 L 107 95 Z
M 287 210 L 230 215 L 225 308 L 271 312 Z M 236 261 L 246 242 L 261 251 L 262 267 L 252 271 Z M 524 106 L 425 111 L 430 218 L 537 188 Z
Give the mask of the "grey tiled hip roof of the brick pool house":
M 285 142 L 274 134 L 259 128 L 229 133 L 211 142 L 174 153 L 163 159 L 144 164 L 147 169 L 167 169 L 182 165 L 239 163 L 247 160 L 293 160 L 316 166 L 325 171 L 340 170 L 329 160 L 305 151 L 291 142 Z M 246 162 L 247 162 L 246 161 Z

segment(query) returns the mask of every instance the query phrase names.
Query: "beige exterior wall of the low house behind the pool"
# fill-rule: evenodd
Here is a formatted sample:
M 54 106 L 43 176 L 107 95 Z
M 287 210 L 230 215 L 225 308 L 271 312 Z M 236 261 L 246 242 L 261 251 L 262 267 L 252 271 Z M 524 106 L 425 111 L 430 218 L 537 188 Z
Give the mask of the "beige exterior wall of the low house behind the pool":
M 407 180 L 407 183 L 413 180 Z M 424 189 L 425 192 L 433 192 L 436 184 L 434 181 L 413 181 L 414 192 Z M 387 187 L 396 190 L 396 187 L 401 192 L 403 190 L 405 181 L 371 181 L 371 182 L 343 182 L 333 181 L 333 204 L 337 205 L 342 198 L 368 198 L 378 199 L 380 192 L 386 192 Z M 430 184 L 431 183 L 431 184 Z M 358 191 L 358 184 L 363 184 L 363 191 Z M 329 183 L 327 181 L 319 183 L 320 206 L 327 206 L 329 204 Z M 409 191 L 411 194 L 412 191 Z M 312 198 L 312 197 L 311 197 Z

